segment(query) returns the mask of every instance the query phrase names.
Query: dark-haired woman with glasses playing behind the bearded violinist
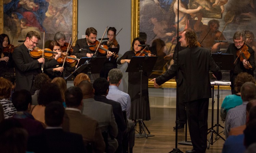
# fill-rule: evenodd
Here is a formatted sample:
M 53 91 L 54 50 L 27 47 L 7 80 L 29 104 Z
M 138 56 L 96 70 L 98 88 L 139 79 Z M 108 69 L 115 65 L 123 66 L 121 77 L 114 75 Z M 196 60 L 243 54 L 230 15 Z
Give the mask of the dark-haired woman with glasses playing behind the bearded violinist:
M 118 50 L 116 50 L 116 52 L 118 53 L 119 44 L 117 43 L 117 41 L 115 39 L 116 29 L 114 27 L 109 27 L 107 33 L 108 33 L 107 35 L 108 35 L 109 40 L 104 41 L 101 44 L 107 45 L 109 47 L 109 50 L 110 50 L 110 48 L 118 48 Z M 110 57 L 110 58 L 106 59 L 106 61 L 103 64 L 103 67 L 101 68 L 100 77 L 104 77 L 104 78 L 108 79 L 109 71 L 111 69 L 117 68 L 116 60 L 117 60 L 117 58 L 115 58 L 115 57 Z

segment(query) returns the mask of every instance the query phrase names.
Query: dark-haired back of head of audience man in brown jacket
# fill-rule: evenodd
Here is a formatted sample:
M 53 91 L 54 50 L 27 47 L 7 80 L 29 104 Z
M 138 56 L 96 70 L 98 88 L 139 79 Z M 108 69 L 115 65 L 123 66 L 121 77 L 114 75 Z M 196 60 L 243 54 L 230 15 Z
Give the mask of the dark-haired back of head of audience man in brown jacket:
M 83 93 L 79 87 L 70 87 L 65 92 L 67 107 L 79 107 L 83 100 Z

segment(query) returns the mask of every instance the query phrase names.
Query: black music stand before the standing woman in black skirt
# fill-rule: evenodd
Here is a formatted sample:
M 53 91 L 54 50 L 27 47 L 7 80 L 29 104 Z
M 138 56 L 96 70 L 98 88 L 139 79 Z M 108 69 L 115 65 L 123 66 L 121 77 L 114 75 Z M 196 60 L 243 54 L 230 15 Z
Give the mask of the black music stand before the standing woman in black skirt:
M 150 134 L 150 131 L 147 129 L 147 126 L 142 120 L 142 72 L 151 72 L 153 70 L 153 67 L 156 63 L 157 56 L 150 56 L 150 57 L 145 57 L 145 56 L 134 56 L 131 58 L 131 61 L 126 69 L 125 72 L 140 72 L 141 77 L 140 77 L 140 114 L 139 114 L 139 119 L 137 122 L 135 122 L 135 125 L 139 123 L 139 132 L 138 134 L 135 135 L 136 138 L 144 138 L 144 137 L 152 137 L 154 135 Z M 147 130 L 148 134 L 146 134 Z M 144 135 L 143 135 L 144 132 Z

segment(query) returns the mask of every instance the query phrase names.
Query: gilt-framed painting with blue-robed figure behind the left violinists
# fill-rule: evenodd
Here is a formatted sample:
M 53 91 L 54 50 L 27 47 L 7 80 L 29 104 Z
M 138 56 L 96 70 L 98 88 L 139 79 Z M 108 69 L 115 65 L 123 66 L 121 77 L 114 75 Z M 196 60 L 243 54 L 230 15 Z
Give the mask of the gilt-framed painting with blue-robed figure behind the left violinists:
M 13 45 L 25 40 L 29 31 L 41 35 L 39 47 L 52 41 L 56 32 L 65 33 L 66 39 L 76 34 L 76 0 L 3 0 L 1 33 L 13 38 Z M 47 45 L 46 45 L 47 46 Z

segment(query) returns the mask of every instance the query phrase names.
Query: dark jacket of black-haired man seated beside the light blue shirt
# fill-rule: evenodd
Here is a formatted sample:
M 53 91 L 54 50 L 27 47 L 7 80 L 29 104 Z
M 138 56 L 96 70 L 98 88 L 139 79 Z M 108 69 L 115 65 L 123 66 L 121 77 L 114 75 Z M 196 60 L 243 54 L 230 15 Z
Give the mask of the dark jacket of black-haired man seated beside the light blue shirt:
M 126 124 L 125 124 L 125 119 L 123 116 L 121 104 L 114 100 L 107 99 L 105 96 L 94 96 L 94 99 L 96 101 L 100 101 L 100 102 L 112 105 L 115 121 L 118 127 L 118 135 L 120 134 L 122 135 L 123 132 L 126 132 Z

